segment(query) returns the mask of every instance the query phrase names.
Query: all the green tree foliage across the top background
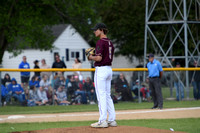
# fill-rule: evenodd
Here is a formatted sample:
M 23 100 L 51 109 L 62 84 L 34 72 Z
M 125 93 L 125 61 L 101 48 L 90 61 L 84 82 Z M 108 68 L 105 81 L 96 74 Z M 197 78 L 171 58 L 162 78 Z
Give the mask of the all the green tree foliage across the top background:
M 162 5 L 162 2 L 159 1 L 159 4 Z M 168 2 L 165 1 L 167 8 Z M 151 19 L 167 20 L 163 12 L 164 7 L 158 5 Z M 193 10 L 189 18 L 192 16 Z M 97 38 L 90 29 L 97 22 L 104 22 L 108 26 L 108 35 L 116 45 L 117 55 L 125 55 L 130 59 L 133 55 L 143 56 L 144 0 L 1 0 L 0 63 L 5 50 L 17 54 L 25 48 L 51 49 L 54 38 L 50 27 L 56 24 L 72 24 L 94 46 Z M 158 31 L 155 34 L 160 42 L 164 37 L 161 33 L 166 32 L 167 28 L 153 27 L 154 31 Z M 189 48 L 193 49 L 194 46 Z M 152 50 L 152 47 L 148 49 Z M 163 45 L 163 49 L 167 50 L 168 44 Z M 176 49 L 178 55 L 180 46 L 177 45 Z

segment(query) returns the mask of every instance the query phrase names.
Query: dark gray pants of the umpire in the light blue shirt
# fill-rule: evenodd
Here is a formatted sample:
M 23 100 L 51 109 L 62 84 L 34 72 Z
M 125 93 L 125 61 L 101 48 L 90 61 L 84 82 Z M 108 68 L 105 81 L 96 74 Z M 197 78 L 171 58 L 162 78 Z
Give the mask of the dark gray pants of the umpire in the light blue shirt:
M 159 78 L 149 78 L 149 88 L 151 90 L 153 107 L 163 108 L 163 97 Z

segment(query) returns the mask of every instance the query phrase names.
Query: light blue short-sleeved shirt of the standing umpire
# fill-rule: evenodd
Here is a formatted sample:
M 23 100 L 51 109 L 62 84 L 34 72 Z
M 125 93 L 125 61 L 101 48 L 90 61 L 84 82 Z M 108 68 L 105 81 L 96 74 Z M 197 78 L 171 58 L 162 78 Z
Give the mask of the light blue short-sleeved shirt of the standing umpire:
M 160 62 L 156 59 L 154 59 L 153 62 L 149 62 L 147 68 L 149 71 L 149 77 L 159 77 L 160 72 L 163 71 Z

